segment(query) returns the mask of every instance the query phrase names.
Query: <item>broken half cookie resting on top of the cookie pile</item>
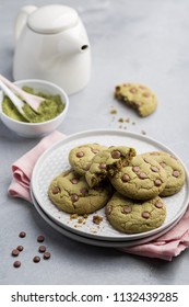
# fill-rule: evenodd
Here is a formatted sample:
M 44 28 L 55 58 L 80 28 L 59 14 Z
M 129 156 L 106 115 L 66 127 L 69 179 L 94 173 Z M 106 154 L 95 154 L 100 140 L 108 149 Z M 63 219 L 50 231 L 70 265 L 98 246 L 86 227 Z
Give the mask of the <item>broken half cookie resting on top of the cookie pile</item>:
M 135 156 L 135 149 L 125 146 L 111 146 L 99 151 L 92 159 L 91 167 L 85 173 L 90 186 L 95 186 L 107 175 L 114 175 L 122 166 L 127 166 Z

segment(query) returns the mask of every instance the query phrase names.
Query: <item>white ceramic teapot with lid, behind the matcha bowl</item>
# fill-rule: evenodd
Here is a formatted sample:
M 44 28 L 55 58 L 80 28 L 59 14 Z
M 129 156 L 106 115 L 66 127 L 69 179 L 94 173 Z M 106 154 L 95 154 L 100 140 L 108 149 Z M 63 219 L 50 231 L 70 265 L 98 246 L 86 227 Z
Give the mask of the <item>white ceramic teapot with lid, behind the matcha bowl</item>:
M 13 78 L 44 79 L 68 93 L 87 84 L 91 47 L 78 12 L 67 5 L 24 7 L 15 20 Z

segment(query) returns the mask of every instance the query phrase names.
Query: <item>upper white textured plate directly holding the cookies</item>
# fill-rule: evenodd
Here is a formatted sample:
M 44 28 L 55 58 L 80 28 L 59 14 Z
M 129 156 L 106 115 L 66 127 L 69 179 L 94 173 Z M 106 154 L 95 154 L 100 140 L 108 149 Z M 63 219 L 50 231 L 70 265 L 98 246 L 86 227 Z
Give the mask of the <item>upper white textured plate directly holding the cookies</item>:
M 38 205 L 51 219 L 54 219 L 54 221 L 56 221 L 56 224 L 59 224 L 64 229 L 75 232 L 76 235 L 98 240 L 139 240 L 163 231 L 167 227 L 172 226 L 186 212 L 189 201 L 189 179 L 187 171 L 186 183 L 181 191 L 173 196 L 164 197 L 164 202 L 167 207 L 167 216 L 164 224 L 156 229 L 142 234 L 121 234 L 109 225 L 106 219 L 104 208 L 88 215 L 85 223 L 82 224 L 78 223 L 78 219 L 70 219 L 69 214 L 59 211 L 50 202 L 47 191 L 51 180 L 63 170 L 70 168 L 68 161 L 68 155 L 70 150 L 78 145 L 88 143 L 98 143 L 106 146 L 123 145 L 134 147 L 138 154 L 153 150 L 163 150 L 175 155 L 175 152 L 173 152 L 166 146 L 146 136 L 111 129 L 83 132 L 71 135 L 55 144 L 40 156 L 37 163 L 35 164 L 31 184 Z M 95 225 L 93 223 L 93 216 L 96 214 L 103 217 L 103 221 L 99 225 Z

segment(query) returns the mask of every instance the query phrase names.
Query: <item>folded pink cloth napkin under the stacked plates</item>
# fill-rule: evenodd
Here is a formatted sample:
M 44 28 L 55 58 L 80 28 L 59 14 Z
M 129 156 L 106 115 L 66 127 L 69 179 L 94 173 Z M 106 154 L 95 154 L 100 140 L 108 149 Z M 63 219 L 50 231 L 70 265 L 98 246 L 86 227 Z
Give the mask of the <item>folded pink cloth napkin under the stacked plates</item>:
M 22 156 L 12 164 L 13 180 L 9 186 L 9 195 L 21 197 L 32 203 L 29 194 L 31 175 L 35 162 L 40 155 L 56 141 L 63 139 L 64 135 L 54 132 L 43 138 L 32 150 Z M 172 261 L 174 257 L 189 247 L 189 208 L 180 221 L 160 238 L 143 245 L 119 250 L 132 254 L 158 258 Z

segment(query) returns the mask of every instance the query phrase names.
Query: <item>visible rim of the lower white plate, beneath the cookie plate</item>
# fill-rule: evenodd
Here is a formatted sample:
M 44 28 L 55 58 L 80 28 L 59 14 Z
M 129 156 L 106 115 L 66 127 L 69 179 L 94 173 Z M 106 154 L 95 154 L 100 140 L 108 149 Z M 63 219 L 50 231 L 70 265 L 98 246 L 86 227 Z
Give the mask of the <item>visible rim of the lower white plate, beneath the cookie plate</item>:
M 182 217 L 182 215 L 175 220 L 169 227 L 167 227 L 166 229 L 164 229 L 163 231 L 146 237 L 144 239 L 139 239 L 139 240 L 126 240 L 126 241 L 110 241 L 110 240 L 98 240 L 95 238 L 87 238 L 85 236 L 80 236 L 75 232 L 69 231 L 67 230 L 64 227 L 61 227 L 60 225 L 56 224 L 56 221 L 54 221 L 39 206 L 39 204 L 37 203 L 33 191 L 31 192 L 32 195 L 32 200 L 33 200 L 33 204 L 35 206 L 35 208 L 37 209 L 38 214 L 42 216 L 42 218 L 48 224 L 50 225 L 54 229 L 56 229 L 58 232 L 60 232 L 61 235 L 73 239 L 75 241 L 82 242 L 82 243 L 86 243 L 86 245 L 91 245 L 91 246 L 97 246 L 97 247 L 104 247 L 104 248 L 128 248 L 128 247 L 133 247 L 133 246 L 138 246 L 138 245 L 144 245 L 150 241 L 153 241 L 155 239 L 157 239 L 158 237 L 163 236 L 164 234 L 166 234 L 168 230 L 170 230 Z

